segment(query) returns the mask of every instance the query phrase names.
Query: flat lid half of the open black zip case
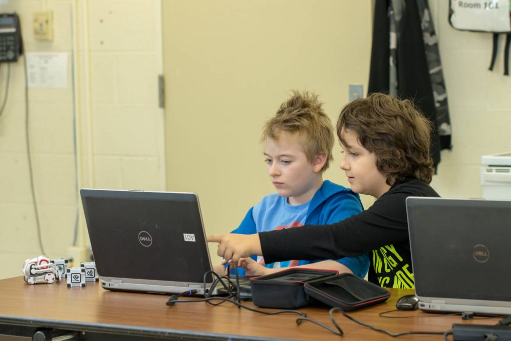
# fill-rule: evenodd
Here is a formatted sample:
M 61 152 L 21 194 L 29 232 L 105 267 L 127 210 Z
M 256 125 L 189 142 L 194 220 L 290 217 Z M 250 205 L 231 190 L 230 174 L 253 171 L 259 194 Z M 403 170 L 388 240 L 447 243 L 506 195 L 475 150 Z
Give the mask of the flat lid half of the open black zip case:
M 339 307 L 344 311 L 357 310 L 387 301 L 390 292 L 353 274 L 341 274 L 309 281 L 304 284 L 310 297 Z

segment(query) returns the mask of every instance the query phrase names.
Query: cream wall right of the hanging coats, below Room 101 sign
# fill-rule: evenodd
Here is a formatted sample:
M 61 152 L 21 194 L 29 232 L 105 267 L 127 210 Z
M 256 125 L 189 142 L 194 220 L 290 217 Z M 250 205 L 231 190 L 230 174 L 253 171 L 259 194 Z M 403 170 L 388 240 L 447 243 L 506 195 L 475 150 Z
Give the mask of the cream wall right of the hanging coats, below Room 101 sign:
M 492 34 L 454 30 L 449 2 L 429 0 L 438 36 L 452 123 L 452 151 L 432 186 L 444 197 L 480 198 L 481 155 L 511 151 L 511 79 L 504 76 L 504 37 L 489 71 Z

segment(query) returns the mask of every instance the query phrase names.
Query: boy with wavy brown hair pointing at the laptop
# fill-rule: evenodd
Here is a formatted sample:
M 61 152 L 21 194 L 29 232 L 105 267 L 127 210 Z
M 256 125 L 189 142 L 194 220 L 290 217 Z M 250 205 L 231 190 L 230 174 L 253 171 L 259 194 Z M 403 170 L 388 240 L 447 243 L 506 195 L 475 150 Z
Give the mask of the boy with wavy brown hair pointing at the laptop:
M 325 259 L 372 253 L 369 281 L 384 287 L 413 288 L 405 200 L 437 197 L 428 185 L 433 174 L 430 124 L 408 100 L 371 94 L 347 104 L 337 122 L 343 152 L 340 167 L 352 190 L 377 200 L 366 211 L 331 225 L 216 235 L 218 254 L 243 263 L 249 254 L 267 261 Z

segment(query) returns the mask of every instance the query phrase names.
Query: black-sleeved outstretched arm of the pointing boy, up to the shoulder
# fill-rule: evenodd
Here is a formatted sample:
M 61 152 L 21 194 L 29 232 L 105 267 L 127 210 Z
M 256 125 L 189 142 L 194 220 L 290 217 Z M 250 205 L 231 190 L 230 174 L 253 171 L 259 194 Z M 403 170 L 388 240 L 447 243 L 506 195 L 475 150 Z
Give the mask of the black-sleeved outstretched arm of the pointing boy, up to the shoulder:
M 409 196 L 437 197 L 420 180 L 391 188 L 368 210 L 332 225 L 302 226 L 295 229 L 262 232 L 252 240 L 261 247 L 268 262 L 283 258 L 337 259 L 359 256 L 383 245 L 408 240 L 405 200 Z M 292 231 L 291 231 L 292 230 Z

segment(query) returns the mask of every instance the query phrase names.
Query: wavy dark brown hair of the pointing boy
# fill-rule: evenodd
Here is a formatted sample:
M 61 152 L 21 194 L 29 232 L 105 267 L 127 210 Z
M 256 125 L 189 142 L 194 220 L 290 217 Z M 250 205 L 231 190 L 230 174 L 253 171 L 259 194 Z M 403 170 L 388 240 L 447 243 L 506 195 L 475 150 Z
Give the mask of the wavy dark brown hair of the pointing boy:
M 430 155 L 432 124 L 409 100 L 373 93 L 344 106 L 337 121 L 337 136 L 341 130 L 357 134 L 358 142 L 376 154 L 376 167 L 392 186 L 406 176 L 429 184 L 433 176 Z

